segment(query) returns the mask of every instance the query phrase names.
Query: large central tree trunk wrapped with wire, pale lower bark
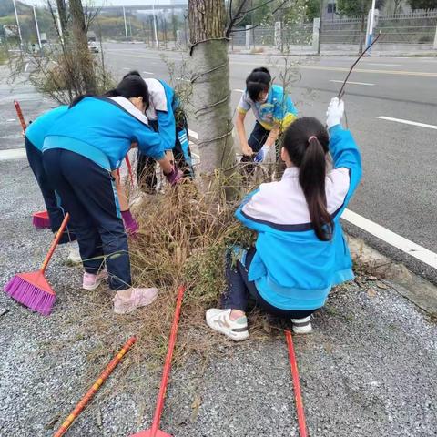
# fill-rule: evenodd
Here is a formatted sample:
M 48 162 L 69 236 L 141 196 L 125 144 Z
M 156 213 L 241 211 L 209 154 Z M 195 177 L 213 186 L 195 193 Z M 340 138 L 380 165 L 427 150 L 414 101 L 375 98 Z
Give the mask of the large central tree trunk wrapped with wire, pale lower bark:
M 236 156 L 229 89 L 229 38 L 224 0 L 188 0 L 192 104 L 198 125 L 200 169 L 230 171 Z

